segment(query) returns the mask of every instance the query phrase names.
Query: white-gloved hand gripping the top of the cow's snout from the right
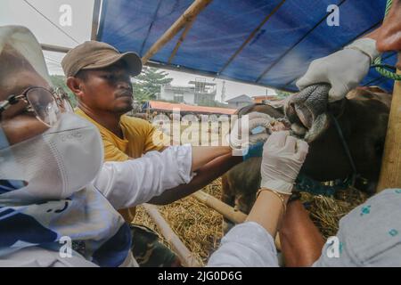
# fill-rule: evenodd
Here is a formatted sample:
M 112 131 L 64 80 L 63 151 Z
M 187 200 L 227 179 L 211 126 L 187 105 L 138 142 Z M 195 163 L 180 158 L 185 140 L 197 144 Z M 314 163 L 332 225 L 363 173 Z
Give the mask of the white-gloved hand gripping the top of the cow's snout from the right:
M 297 86 L 302 90 L 309 85 L 328 83 L 329 102 L 338 101 L 359 85 L 378 56 L 375 40 L 358 39 L 337 53 L 312 61 Z

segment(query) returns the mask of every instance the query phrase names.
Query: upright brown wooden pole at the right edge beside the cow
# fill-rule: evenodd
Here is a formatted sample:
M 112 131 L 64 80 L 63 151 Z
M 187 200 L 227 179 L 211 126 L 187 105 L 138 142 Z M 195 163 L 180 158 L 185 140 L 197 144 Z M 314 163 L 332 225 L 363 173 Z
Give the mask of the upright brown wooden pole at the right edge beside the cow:
M 401 70 L 397 73 L 401 74 Z M 401 188 L 401 81 L 394 85 L 377 191 L 388 188 Z

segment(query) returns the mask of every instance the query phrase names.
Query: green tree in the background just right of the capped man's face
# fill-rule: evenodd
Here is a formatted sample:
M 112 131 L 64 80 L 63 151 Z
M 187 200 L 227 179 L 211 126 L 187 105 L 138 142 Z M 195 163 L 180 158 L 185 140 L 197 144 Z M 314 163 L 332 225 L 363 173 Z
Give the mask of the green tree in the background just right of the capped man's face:
M 135 100 L 143 102 L 156 99 L 161 85 L 169 84 L 171 81 L 173 78 L 169 78 L 166 71 L 143 67 L 142 73 L 135 77 L 133 83 Z

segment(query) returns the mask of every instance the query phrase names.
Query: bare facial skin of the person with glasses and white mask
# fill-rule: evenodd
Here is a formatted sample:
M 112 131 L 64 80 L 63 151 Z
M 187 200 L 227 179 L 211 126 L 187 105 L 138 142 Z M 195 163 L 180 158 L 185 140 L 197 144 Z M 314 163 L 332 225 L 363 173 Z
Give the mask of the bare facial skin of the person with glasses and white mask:
M 0 102 L 11 94 L 21 94 L 30 86 L 49 88 L 48 83 L 20 53 L 5 50 L 0 54 Z M 3 67 L 7 67 L 6 69 Z M 15 144 L 44 133 L 48 127 L 35 114 L 27 110 L 27 103 L 20 101 L 1 114 L 0 125 L 9 143 Z

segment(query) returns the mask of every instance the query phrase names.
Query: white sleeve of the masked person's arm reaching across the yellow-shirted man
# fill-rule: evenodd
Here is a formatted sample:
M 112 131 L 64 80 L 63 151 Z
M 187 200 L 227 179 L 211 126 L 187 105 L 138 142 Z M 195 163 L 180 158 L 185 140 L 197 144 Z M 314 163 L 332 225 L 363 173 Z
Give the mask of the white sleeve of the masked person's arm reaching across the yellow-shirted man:
M 94 187 L 117 209 L 129 208 L 159 196 L 192 179 L 191 145 L 150 151 L 140 159 L 104 163 Z

